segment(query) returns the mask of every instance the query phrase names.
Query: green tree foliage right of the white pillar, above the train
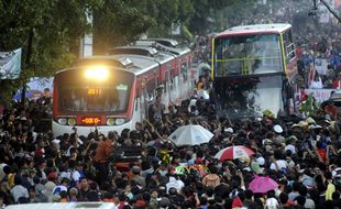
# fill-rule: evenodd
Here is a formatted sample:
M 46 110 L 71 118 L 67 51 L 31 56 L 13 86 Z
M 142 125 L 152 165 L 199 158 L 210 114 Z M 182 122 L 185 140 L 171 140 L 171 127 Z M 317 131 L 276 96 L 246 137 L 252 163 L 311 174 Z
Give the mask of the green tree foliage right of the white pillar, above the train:
M 173 23 L 186 23 L 190 0 L 103 0 L 94 13 L 95 54 L 125 45 L 142 34 L 169 36 Z

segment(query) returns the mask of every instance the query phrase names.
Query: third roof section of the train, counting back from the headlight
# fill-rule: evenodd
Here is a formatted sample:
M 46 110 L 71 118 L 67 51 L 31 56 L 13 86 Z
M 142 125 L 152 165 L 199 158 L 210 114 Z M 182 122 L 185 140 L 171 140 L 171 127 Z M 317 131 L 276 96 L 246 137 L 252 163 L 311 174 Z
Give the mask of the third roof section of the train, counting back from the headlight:
M 154 47 L 158 51 L 170 53 L 173 55 L 179 56 L 190 52 L 188 47 L 177 46 L 177 47 L 169 47 L 167 45 L 162 44 L 155 40 L 139 40 L 132 43 L 133 46 L 145 46 L 145 47 Z

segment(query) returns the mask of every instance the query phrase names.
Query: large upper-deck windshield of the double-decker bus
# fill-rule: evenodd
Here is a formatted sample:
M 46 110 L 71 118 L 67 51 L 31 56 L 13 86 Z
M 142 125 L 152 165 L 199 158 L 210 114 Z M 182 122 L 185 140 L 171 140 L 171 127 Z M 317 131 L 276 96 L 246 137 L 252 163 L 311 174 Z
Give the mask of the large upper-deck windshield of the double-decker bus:
M 278 34 L 218 37 L 215 61 L 216 77 L 284 73 Z

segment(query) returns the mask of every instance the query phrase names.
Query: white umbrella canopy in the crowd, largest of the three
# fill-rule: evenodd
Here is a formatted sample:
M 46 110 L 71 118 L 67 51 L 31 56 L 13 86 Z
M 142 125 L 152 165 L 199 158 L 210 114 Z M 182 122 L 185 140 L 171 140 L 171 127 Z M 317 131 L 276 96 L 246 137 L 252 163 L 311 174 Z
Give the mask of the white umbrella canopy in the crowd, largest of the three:
M 175 132 L 168 136 L 168 140 L 170 140 L 177 146 L 194 146 L 208 143 L 212 136 L 213 134 L 206 130 L 204 127 L 188 124 L 175 130 Z

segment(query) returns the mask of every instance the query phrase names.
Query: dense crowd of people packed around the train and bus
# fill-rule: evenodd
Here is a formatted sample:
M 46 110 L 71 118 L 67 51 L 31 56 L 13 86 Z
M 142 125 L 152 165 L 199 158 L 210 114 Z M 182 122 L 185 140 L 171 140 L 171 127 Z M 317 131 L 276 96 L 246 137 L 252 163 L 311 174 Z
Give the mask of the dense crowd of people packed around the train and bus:
M 272 8 L 278 11 L 274 15 L 265 10 L 255 8 L 252 21 L 245 16 L 230 24 L 290 22 L 298 13 L 294 6 L 284 11 Z M 322 29 L 329 29 L 326 35 Z M 309 22 L 307 29 L 294 32 L 301 88 L 310 85 L 309 70 L 317 56 L 330 62 L 330 74 L 320 79 L 322 87 L 341 87 L 334 81 L 341 78 L 338 30 L 334 23 Z M 209 57 L 208 40 L 197 38 L 198 62 Z M 45 103 L 7 107 L 0 119 L 0 207 L 105 201 L 119 209 L 341 208 L 341 123 L 334 106 L 309 118 L 264 113 L 231 121 L 218 116 L 209 100 L 195 96 L 178 106 L 153 105 L 148 120 L 120 134 L 78 135 L 74 129 L 54 138 L 42 123 L 48 117 Z M 167 136 L 185 124 L 200 124 L 213 138 L 207 144 L 178 147 Z M 213 157 L 232 145 L 254 154 L 230 161 Z M 118 157 L 122 150 L 139 157 L 122 163 Z M 278 186 L 254 193 L 250 183 L 255 176 L 272 178 Z

